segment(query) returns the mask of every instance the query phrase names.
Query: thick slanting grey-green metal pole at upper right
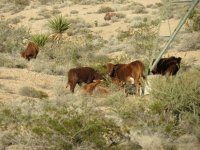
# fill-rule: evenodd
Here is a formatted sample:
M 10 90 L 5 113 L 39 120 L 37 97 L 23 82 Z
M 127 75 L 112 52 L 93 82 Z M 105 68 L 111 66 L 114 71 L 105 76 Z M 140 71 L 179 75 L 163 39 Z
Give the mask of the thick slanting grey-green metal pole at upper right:
M 159 62 L 160 58 L 162 57 L 162 55 L 164 54 L 164 52 L 167 50 L 167 48 L 170 46 L 171 42 L 174 40 L 174 38 L 176 37 L 176 34 L 178 33 L 178 31 L 181 29 L 181 27 L 183 26 L 183 24 L 185 23 L 185 21 L 187 20 L 188 16 L 190 15 L 190 13 L 192 12 L 192 10 L 196 7 L 196 5 L 199 3 L 200 0 L 193 0 L 193 3 L 191 5 L 191 7 L 189 8 L 189 10 L 186 12 L 185 16 L 180 20 L 179 24 L 177 25 L 176 29 L 174 30 L 174 32 L 172 33 L 172 35 L 170 36 L 170 39 L 168 40 L 168 42 L 166 43 L 165 47 L 162 49 L 162 51 L 160 52 L 160 54 L 158 55 L 157 59 L 154 61 L 153 65 L 150 67 L 150 72 L 154 69 L 154 67 L 157 65 L 157 63 Z

